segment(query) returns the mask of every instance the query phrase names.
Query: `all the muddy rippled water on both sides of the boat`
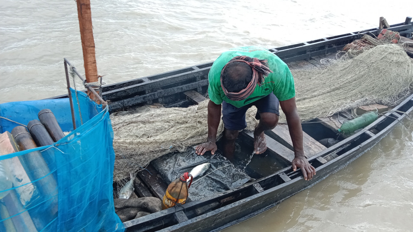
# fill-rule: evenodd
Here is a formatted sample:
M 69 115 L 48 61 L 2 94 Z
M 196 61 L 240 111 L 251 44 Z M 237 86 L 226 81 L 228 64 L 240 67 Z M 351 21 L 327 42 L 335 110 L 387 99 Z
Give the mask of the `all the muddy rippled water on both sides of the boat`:
M 230 47 L 290 45 L 413 16 L 410 0 L 91 2 L 108 84 L 213 61 Z M 64 57 L 83 72 L 76 2 L 0 0 L 0 103 L 66 93 Z M 228 231 L 411 230 L 411 133 L 398 127 L 342 171 Z

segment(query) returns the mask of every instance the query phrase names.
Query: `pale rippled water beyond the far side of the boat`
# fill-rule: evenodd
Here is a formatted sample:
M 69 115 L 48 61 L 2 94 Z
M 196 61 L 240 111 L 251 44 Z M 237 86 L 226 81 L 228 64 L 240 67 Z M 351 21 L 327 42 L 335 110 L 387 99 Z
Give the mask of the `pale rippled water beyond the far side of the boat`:
M 0 3 L 0 103 L 65 93 L 63 58 L 83 66 L 76 2 Z M 347 11 L 327 0 L 92 0 L 97 68 L 109 84 L 213 61 L 230 47 L 371 28 L 381 16 Z M 386 17 L 398 23 L 405 15 Z

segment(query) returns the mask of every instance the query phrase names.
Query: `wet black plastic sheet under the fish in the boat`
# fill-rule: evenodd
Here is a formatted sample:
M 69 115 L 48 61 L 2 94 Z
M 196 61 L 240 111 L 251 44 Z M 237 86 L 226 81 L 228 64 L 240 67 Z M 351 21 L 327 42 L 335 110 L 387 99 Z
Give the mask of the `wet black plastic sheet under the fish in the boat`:
M 207 152 L 204 155 L 197 155 L 192 150 L 167 154 L 151 162 L 167 184 L 183 173 L 190 172 L 195 166 L 204 163 L 210 163 L 211 166 L 203 175 L 192 181 L 189 188 L 189 199 L 192 201 L 239 187 L 249 180 L 254 180 L 218 153 L 211 155 Z

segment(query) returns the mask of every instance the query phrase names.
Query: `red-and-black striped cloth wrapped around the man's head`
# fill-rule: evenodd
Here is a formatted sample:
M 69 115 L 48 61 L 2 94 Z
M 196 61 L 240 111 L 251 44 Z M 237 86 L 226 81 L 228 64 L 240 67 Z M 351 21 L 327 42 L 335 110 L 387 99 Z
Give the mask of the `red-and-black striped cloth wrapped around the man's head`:
M 242 89 L 238 93 L 228 92 L 225 89 L 225 87 L 223 85 L 223 81 L 222 81 L 222 76 L 223 76 L 225 68 L 227 68 L 227 66 L 230 63 L 233 63 L 233 62 L 247 63 L 252 69 L 252 80 L 251 80 L 251 82 L 249 82 L 249 84 L 247 85 L 247 87 L 245 89 Z M 245 100 L 249 95 L 251 95 L 254 92 L 256 84 L 261 86 L 261 84 L 264 82 L 265 77 L 268 76 L 268 74 L 270 74 L 272 72 L 273 71 L 271 71 L 268 68 L 268 60 L 260 60 L 260 59 L 252 58 L 252 57 L 249 57 L 249 56 L 235 56 L 233 59 L 228 61 L 228 63 L 222 68 L 222 71 L 221 71 L 222 90 L 224 91 L 225 96 L 227 96 L 232 101 Z

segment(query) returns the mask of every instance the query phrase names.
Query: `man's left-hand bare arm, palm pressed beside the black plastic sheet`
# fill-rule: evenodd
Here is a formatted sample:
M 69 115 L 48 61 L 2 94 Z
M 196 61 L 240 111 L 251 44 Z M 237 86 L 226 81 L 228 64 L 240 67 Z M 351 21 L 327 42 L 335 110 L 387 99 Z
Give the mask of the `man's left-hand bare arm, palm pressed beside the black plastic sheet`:
M 216 133 L 218 131 L 219 121 L 221 120 L 221 104 L 217 105 L 209 100 L 208 103 L 208 139 L 207 142 L 198 145 L 195 152 L 198 155 L 204 155 L 205 152 L 211 151 L 212 155 L 216 152 Z

